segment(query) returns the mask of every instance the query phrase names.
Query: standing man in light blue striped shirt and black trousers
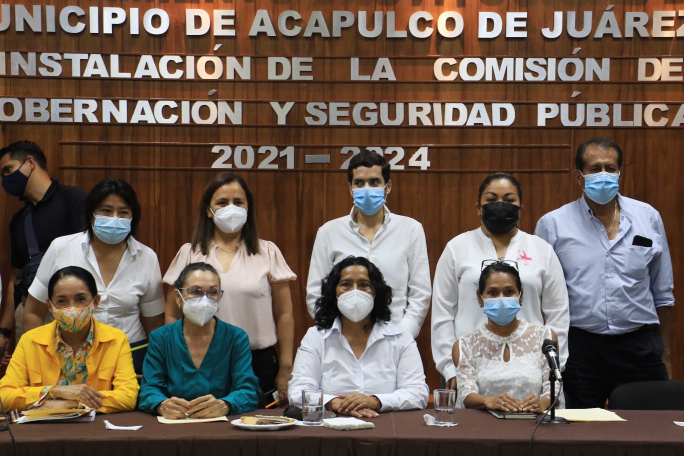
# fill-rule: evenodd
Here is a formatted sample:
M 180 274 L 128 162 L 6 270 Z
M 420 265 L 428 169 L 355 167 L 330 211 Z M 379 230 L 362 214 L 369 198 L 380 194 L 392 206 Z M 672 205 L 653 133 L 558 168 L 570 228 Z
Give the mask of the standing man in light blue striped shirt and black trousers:
M 555 250 L 568 286 L 566 406 L 603 407 L 620 384 L 668 379 L 672 262 L 660 214 L 618 194 L 616 142 L 588 139 L 575 167 L 583 196 L 544 215 L 534 234 Z

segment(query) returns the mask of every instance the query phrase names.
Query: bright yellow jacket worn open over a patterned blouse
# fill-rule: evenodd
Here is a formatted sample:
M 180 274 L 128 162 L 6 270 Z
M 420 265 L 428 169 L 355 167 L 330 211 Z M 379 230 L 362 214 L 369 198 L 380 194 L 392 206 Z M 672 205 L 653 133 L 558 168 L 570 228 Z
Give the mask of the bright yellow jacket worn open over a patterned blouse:
M 105 394 L 98 412 L 128 412 L 135 408 L 140 386 L 133 370 L 126 334 L 94 320 L 93 343 L 88 351 L 86 384 Z M 61 365 L 55 347 L 57 321 L 21 336 L 7 373 L 0 379 L 0 398 L 5 410 L 25 410 L 40 399 L 42 388 L 57 384 Z

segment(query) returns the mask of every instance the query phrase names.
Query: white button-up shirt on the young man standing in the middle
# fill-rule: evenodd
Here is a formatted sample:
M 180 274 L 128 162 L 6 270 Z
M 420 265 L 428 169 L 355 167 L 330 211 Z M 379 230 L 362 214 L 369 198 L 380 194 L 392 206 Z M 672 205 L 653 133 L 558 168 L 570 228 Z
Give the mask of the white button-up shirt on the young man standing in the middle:
M 306 282 L 306 307 L 313 317 L 316 299 L 321 296 L 321 280 L 347 256 L 365 256 L 376 265 L 394 296 L 392 321 L 414 338 L 418 336 L 430 307 L 430 264 L 423 226 L 415 219 L 393 214 L 384 207 L 384 222 L 373 242 L 358 232 L 350 215 L 330 220 L 318 229 L 311 253 Z

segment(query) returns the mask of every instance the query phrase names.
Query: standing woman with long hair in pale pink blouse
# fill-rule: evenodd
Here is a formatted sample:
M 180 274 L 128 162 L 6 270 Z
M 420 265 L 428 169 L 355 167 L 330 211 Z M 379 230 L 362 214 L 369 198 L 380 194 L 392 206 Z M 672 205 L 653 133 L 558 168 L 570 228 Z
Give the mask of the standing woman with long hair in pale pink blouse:
M 198 261 L 212 265 L 224 284 L 216 316 L 250 338 L 252 368 L 262 392 L 259 407 L 273 401 L 265 393 L 274 389 L 280 401 L 287 401 L 294 338 L 289 281 L 297 276 L 274 243 L 259 239 L 254 198 L 235 173 L 219 174 L 207 184 L 192 243 L 181 247 L 163 282 L 172 285 L 186 265 Z M 166 323 L 181 316 L 172 290 L 166 297 Z

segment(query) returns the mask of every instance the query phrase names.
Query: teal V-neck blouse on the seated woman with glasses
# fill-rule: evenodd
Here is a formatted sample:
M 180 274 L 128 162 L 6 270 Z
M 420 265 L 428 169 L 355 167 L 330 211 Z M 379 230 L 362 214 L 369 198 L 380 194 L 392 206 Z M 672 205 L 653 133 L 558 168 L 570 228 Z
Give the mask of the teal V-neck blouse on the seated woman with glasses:
M 200 368 L 190 358 L 183 336 L 183 319 L 150 334 L 142 366 L 138 408 L 156 413 L 170 397 L 192 401 L 205 394 L 231 404 L 231 414 L 257 408 L 259 379 L 252 371 L 246 332 L 214 317 L 216 329 Z

